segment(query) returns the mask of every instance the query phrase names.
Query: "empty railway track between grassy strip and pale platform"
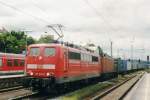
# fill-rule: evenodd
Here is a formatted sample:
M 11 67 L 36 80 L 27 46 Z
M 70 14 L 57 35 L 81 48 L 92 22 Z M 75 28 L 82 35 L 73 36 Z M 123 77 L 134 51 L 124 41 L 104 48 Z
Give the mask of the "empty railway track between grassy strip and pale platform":
M 128 78 L 120 84 L 92 97 L 90 100 L 122 100 L 142 76 L 143 73 Z

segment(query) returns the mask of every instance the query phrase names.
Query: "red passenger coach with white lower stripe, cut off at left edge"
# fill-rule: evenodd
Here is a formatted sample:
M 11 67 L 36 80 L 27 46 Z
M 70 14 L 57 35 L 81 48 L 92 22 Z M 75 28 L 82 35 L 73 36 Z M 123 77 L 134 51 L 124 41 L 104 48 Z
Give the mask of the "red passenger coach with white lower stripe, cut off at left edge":
M 25 56 L 20 54 L 0 53 L 0 88 L 4 84 L 14 85 L 24 76 Z

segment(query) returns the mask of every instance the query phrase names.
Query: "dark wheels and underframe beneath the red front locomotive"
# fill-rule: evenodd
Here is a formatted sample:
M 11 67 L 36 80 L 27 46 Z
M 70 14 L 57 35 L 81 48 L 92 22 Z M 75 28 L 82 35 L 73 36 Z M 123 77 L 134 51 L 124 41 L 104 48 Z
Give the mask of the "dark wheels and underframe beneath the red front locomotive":
M 100 74 L 88 74 L 76 77 L 62 77 L 56 79 L 55 77 L 49 78 L 33 78 L 33 77 L 25 77 L 24 78 L 24 86 L 32 87 L 33 90 L 51 90 L 53 91 L 56 87 L 70 87 L 75 84 L 80 85 L 80 83 L 89 83 L 96 82 L 96 78 L 100 78 Z

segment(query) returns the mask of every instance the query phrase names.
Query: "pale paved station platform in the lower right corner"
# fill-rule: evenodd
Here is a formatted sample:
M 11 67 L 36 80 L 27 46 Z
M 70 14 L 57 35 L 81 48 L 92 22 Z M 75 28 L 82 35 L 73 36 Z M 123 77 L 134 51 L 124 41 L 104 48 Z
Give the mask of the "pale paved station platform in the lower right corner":
M 150 100 L 150 73 L 145 73 L 123 100 Z

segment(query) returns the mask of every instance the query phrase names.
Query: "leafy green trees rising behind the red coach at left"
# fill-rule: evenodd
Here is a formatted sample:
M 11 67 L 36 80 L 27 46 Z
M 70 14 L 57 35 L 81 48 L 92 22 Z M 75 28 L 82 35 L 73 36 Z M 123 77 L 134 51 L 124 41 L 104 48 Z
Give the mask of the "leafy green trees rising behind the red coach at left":
M 30 45 L 35 42 L 32 37 L 28 37 L 24 32 L 0 33 L 0 52 L 22 53 L 26 49 L 26 43 Z

